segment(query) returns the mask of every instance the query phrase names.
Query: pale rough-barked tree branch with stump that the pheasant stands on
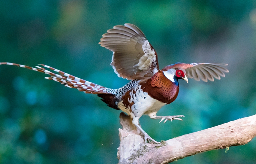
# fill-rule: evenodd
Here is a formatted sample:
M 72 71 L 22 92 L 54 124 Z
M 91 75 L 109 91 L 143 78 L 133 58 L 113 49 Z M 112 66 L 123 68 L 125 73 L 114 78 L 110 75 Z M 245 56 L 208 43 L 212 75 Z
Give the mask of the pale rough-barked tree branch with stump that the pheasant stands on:
M 170 163 L 200 152 L 245 145 L 256 136 L 256 115 L 146 145 L 130 116 L 121 113 L 120 123 L 123 129 L 119 129 L 119 164 Z

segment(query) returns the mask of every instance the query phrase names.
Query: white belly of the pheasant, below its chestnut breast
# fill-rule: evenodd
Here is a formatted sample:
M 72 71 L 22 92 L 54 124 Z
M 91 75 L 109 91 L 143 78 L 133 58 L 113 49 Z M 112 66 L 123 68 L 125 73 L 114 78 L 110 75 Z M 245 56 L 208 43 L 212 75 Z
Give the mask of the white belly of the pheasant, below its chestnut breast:
M 133 104 L 131 106 L 125 107 L 123 102 L 118 103 L 118 107 L 128 115 L 131 115 L 132 118 L 141 117 L 143 114 L 150 114 L 152 112 L 158 112 L 162 106 L 166 103 L 162 103 L 148 95 L 147 92 L 143 92 L 140 86 L 134 89 L 136 92 L 130 92 L 130 98 L 128 102 Z

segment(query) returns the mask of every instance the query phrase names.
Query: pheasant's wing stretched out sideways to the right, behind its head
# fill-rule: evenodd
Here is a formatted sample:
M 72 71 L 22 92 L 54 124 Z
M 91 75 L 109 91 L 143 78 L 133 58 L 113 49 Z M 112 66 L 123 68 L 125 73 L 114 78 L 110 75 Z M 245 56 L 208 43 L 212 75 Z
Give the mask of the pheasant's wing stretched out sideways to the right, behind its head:
M 186 76 L 193 78 L 197 81 L 203 80 L 207 82 L 208 80 L 214 81 L 214 78 L 220 80 L 221 76 L 225 77 L 225 72 L 229 72 L 224 68 L 227 64 L 223 63 L 175 63 L 173 65 L 166 66 L 162 71 L 167 71 L 171 68 L 182 68 L 186 71 Z

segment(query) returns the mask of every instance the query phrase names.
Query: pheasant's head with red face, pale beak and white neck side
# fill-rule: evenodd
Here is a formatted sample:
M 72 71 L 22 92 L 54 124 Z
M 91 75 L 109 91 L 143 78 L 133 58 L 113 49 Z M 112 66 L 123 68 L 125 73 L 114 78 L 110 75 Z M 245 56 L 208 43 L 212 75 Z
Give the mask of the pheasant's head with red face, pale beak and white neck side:
M 172 67 L 169 69 L 162 69 L 164 75 L 174 83 L 178 82 L 178 79 L 183 79 L 188 83 L 186 71 L 180 67 Z

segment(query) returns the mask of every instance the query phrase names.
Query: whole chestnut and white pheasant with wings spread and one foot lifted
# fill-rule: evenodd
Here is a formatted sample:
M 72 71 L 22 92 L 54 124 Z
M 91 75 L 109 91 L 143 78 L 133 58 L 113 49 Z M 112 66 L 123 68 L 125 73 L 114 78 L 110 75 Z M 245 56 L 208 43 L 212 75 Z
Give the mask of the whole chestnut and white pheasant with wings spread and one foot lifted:
M 60 82 L 69 88 L 85 93 L 97 94 L 109 107 L 128 114 L 132 123 L 144 135 L 145 144 L 152 141 L 139 125 L 139 118 L 147 114 L 152 119 L 181 120 L 184 115 L 158 116 L 164 105 L 172 103 L 179 93 L 179 81 L 193 78 L 204 82 L 225 77 L 229 72 L 224 63 L 175 63 L 159 69 L 158 55 L 143 32 L 133 24 L 117 25 L 102 35 L 100 46 L 113 51 L 111 66 L 118 77 L 129 80 L 121 88 L 111 89 L 83 80 L 53 67 L 40 64 L 36 68 L 2 62 L 0 65 L 14 65 L 48 74 L 46 79 Z

